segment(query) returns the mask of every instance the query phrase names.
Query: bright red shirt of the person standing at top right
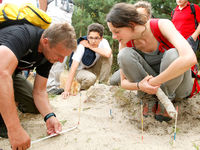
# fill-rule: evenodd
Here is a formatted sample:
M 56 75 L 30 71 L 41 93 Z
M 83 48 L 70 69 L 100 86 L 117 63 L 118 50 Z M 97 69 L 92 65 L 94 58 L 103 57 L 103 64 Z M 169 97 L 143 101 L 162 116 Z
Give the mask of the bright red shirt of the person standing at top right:
M 196 20 L 200 22 L 200 7 L 194 4 L 195 13 L 196 13 Z M 185 39 L 190 37 L 195 29 L 195 19 L 194 15 L 192 14 L 192 10 L 190 8 L 190 3 L 188 2 L 187 5 L 180 10 L 179 6 L 175 8 L 172 22 L 176 29 L 183 35 Z

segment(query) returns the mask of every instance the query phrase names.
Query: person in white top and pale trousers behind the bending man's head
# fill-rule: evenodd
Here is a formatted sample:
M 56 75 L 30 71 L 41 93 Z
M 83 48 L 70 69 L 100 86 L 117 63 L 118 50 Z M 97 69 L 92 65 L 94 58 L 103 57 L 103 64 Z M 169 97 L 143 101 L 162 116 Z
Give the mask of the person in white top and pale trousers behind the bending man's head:
M 47 14 L 52 18 L 52 24 L 67 22 L 71 24 L 74 9 L 73 0 L 47 0 Z M 57 62 L 53 64 L 48 81 L 48 94 L 60 95 L 64 89 L 60 88 L 60 74 L 64 71 L 67 57 L 62 63 Z

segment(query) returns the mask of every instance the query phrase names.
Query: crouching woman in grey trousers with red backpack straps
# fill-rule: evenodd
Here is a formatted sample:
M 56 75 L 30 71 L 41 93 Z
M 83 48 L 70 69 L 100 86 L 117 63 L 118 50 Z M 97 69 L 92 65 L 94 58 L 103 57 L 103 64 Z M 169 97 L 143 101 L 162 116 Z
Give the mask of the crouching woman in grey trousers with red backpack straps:
M 118 3 L 106 21 L 121 47 L 118 63 L 122 88 L 156 94 L 161 87 L 170 100 L 190 96 L 193 87 L 190 68 L 197 58 L 170 20 L 148 20 L 133 4 Z M 130 40 L 131 48 L 127 47 Z M 156 113 L 155 118 L 168 120 L 165 113 Z

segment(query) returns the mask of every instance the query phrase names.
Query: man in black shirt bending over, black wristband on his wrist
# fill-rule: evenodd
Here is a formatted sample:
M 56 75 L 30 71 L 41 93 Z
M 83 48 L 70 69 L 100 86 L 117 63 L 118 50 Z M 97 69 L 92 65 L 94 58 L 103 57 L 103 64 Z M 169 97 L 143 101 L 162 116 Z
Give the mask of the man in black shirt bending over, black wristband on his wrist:
M 75 32 L 67 23 L 46 30 L 22 24 L 1 28 L 0 35 L 0 136 L 9 137 L 13 150 L 27 149 L 30 137 L 20 125 L 16 104 L 23 113 L 40 112 L 48 134 L 61 131 L 49 105 L 46 83 L 52 64 L 76 49 Z M 20 72 L 33 68 L 37 74 L 32 87 Z

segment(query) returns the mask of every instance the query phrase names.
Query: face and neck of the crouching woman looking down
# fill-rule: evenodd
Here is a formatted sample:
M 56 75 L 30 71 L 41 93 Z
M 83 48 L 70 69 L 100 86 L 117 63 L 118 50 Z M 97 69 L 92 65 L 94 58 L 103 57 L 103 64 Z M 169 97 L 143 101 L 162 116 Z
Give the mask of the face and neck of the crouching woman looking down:
M 131 27 L 116 28 L 110 22 L 107 22 L 107 25 L 112 32 L 112 38 L 118 40 L 120 43 L 127 43 L 130 40 L 141 37 L 141 32 L 137 30 L 137 26 L 135 26 L 133 30 Z

